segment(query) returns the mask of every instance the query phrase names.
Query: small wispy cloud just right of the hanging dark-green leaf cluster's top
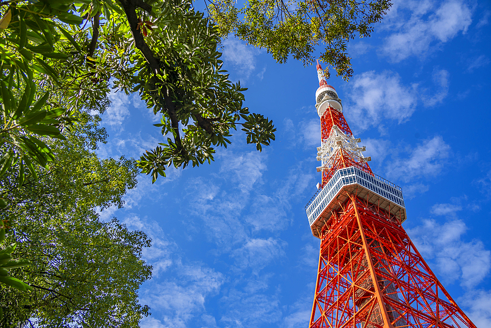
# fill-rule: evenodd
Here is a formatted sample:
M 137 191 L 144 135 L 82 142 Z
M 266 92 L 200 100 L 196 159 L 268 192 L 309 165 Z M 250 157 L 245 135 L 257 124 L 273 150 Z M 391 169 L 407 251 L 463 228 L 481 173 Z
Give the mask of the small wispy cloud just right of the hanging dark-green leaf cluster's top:
M 256 69 L 256 58 L 258 50 L 243 44 L 238 39 L 225 39 L 223 46 L 223 62 L 225 68 L 230 64 L 239 73 L 239 78 L 247 80 Z

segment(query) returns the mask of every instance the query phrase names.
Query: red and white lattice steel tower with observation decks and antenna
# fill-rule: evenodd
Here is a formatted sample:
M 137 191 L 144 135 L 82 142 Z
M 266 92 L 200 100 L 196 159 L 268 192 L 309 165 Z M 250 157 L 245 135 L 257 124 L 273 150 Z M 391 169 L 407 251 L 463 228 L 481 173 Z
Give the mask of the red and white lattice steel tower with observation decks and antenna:
M 401 226 L 402 189 L 372 173 L 317 64 L 322 182 L 305 206 L 321 239 L 309 328 L 475 328 Z

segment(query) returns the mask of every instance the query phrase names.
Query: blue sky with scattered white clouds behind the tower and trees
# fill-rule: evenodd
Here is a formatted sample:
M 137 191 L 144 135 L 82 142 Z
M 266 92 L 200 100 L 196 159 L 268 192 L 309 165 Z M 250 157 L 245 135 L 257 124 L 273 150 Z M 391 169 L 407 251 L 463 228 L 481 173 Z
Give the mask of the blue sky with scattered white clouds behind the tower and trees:
M 350 82 L 328 80 L 374 173 L 403 188 L 409 237 L 481 328 L 491 327 L 490 19 L 489 1 L 394 1 L 371 38 L 350 42 Z M 125 208 L 101 215 L 153 239 L 142 327 L 307 327 L 319 252 L 304 211 L 321 178 L 315 67 L 276 64 L 235 39 L 223 47 L 276 141 L 260 153 L 238 132 L 212 165 L 154 185 L 140 176 Z M 102 156 L 137 158 L 162 141 L 137 95 L 111 100 Z

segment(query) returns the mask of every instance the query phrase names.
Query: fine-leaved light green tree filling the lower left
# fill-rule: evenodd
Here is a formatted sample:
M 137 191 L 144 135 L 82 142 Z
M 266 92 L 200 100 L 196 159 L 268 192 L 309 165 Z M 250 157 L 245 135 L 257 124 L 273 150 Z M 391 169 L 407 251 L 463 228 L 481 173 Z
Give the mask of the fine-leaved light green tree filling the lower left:
M 16 255 L 32 262 L 11 270 L 12 278 L 29 282 L 30 293 L 0 285 L 1 327 L 29 318 L 38 327 L 136 327 L 149 314 L 137 290 L 151 276 L 141 260 L 150 240 L 116 219 L 101 221 L 94 210 L 122 206 L 136 186 L 136 162 L 99 159 L 91 151 L 105 138 L 99 119 L 75 118 L 66 140 L 45 140 L 55 159 L 47 170 L 38 167 L 37 181 L 27 176 L 18 185 L 18 164 L 0 180 L 8 202 L 0 215 L 15 218 L 6 241 L 16 240 Z

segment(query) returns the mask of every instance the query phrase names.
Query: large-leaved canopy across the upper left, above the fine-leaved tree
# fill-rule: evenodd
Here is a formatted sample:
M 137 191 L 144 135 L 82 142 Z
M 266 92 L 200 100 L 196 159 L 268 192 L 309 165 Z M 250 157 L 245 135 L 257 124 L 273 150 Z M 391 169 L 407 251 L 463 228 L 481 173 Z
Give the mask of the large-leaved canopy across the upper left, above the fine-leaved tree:
M 237 124 L 258 150 L 274 140 L 273 122 L 243 107 L 245 89 L 221 69 L 218 29 L 190 2 L 9 0 L 0 14 L 0 177 L 15 170 L 17 187 L 51 170 L 47 140 L 65 140 L 82 109 L 102 113 L 111 84 L 162 116 L 166 139 L 138 161 L 152 181 L 169 165 L 210 163 Z M 0 282 L 29 290 L 8 274 L 15 247 L 0 250 Z

